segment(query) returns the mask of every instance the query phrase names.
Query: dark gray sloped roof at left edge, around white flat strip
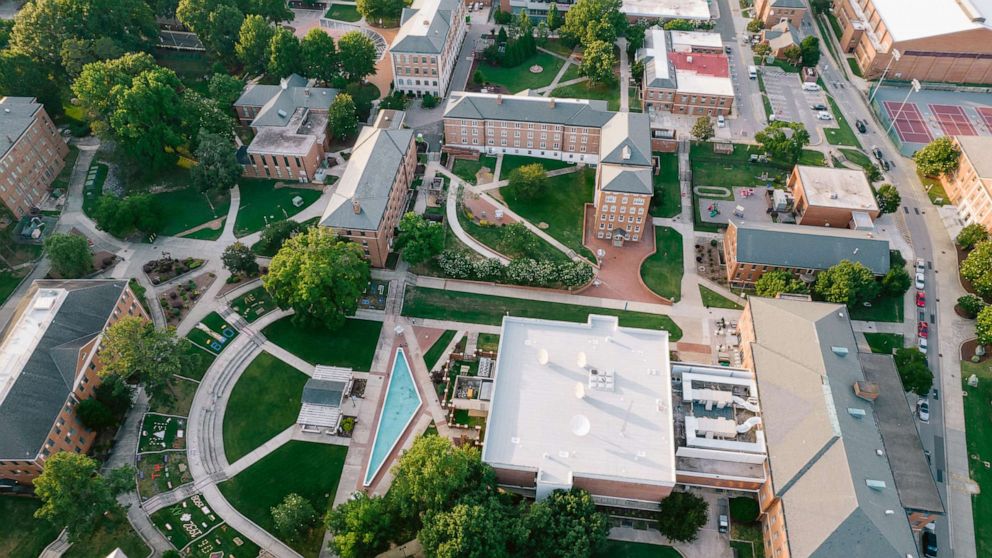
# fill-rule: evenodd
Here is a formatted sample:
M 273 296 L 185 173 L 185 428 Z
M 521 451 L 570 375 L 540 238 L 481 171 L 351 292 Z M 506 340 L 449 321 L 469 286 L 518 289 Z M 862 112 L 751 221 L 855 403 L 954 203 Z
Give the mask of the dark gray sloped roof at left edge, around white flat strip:
M 0 457 L 33 459 L 72 390 L 79 348 L 103 331 L 126 281 L 35 281 L 36 289 L 66 289 L 68 294 L 0 402 Z M 23 310 L 23 309 L 19 309 Z M 16 316 L 15 316 L 16 319 Z

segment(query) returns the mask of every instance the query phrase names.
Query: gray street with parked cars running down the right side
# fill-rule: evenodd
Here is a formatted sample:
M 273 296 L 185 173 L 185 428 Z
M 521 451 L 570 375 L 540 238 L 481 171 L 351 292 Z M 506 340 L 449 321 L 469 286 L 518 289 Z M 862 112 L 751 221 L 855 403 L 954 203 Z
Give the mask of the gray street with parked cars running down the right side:
M 815 26 L 814 29 L 818 34 L 819 29 Z M 821 36 L 820 40 L 822 42 L 830 38 Z M 913 163 L 899 156 L 895 145 L 884 134 L 885 129 L 868 110 L 867 99 L 847 82 L 846 75 L 838 71 L 828 52 L 824 51 L 820 65 L 823 81 L 828 84 L 827 91 L 848 121 L 853 123 L 856 119 L 861 119 L 868 122 L 867 133 L 858 138 L 865 148 L 870 149 L 877 145 L 887 160 L 895 159 L 895 166 L 886 173 L 885 181 L 894 184 L 902 196 L 902 208 L 896 219 L 904 219 L 904 231 L 909 235 L 915 257 L 927 262 L 924 289 L 926 307 L 923 310 L 924 318 L 930 324 L 928 360 L 934 373 L 934 387 L 940 389 L 941 397 L 931 397 L 930 422 L 919 424 L 920 438 L 923 447 L 932 455 L 931 468 L 947 512 L 945 518 L 937 522 L 940 554 L 972 557 L 975 556 L 975 538 L 971 497 L 960 486 L 952 486 L 949 490 L 948 485 L 949 479 L 968 477 L 963 416 L 959 410 L 961 379 L 957 341 L 953 335 L 948 335 L 941 344 L 939 327 L 945 320 L 948 323 L 954 320 L 953 311 L 950 310 L 953 302 L 945 302 L 938 307 L 940 292 L 945 293 L 948 301 L 953 301 L 956 298 L 955 293 L 960 290 L 953 272 L 957 269 L 954 246 L 916 176 Z M 840 87 L 836 87 L 835 83 Z M 950 273 L 940 275 L 938 270 L 948 270 Z M 915 297 L 915 292 L 910 292 L 908 296 Z M 910 312 L 910 308 L 916 310 L 911 303 L 907 304 L 907 312 Z M 908 313 L 905 322 L 907 338 L 914 341 L 916 318 L 917 312 Z M 945 403 L 954 401 L 955 397 L 957 407 L 945 409 Z M 953 411 L 953 415 L 945 417 L 948 410 Z

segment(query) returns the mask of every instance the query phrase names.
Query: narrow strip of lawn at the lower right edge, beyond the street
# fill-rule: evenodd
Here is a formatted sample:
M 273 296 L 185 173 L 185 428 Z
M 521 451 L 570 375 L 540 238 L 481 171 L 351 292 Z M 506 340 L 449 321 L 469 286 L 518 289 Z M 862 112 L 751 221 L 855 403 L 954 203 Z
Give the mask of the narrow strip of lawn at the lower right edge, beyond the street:
M 968 386 L 968 378 L 978 376 L 978 387 Z M 992 555 L 992 529 L 988 528 L 988 518 L 992 517 L 992 469 L 982 462 L 992 461 L 992 364 L 985 361 L 974 364 L 961 362 L 962 389 L 967 397 L 964 401 L 964 418 L 968 424 L 968 459 L 971 478 L 978 483 L 981 492 L 971 497 L 972 516 L 975 522 L 975 546 L 978 556 Z

